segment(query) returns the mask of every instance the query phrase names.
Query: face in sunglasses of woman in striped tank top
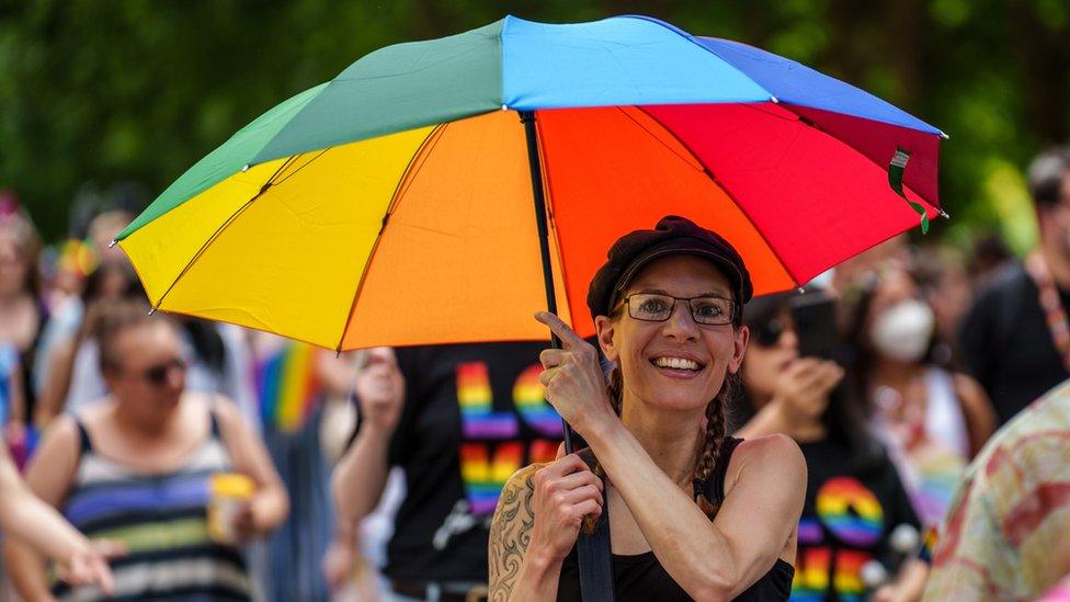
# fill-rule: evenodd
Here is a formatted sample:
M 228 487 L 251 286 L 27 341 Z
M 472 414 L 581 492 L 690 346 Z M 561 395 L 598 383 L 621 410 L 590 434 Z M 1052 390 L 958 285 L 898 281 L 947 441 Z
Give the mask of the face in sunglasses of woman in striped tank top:
M 109 375 L 112 395 L 148 419 L 173 411 L 185 388 L 185 362 L 178 333 L 166 322 L 145 323 L 113 340 L 121 366 Z

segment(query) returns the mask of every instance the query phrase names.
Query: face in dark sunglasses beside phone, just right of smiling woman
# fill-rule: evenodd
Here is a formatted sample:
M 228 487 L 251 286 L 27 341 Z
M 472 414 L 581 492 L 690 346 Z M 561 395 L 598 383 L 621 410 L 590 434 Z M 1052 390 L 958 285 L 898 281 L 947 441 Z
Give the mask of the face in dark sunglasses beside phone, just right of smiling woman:
M 787 306 L 767 322 L 754 325 L 742 367 L 743 388 L 751 400 L 764 405 L 781 375 L 798 359 L 799 339 Z

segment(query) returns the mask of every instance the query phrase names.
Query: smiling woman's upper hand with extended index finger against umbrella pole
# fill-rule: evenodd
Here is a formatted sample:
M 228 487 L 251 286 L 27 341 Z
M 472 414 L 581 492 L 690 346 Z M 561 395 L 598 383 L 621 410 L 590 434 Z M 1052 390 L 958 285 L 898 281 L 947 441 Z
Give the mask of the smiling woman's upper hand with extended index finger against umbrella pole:
M 605 394 L 605 376 L 599 365 L 599 352 L 560 318 L 548 311 L 535 314 L 557 334 L 565 349 L 544 350 L 539 383 L 546 387 L 546 400 L 581 435 L 600 420 L 615 417 Z

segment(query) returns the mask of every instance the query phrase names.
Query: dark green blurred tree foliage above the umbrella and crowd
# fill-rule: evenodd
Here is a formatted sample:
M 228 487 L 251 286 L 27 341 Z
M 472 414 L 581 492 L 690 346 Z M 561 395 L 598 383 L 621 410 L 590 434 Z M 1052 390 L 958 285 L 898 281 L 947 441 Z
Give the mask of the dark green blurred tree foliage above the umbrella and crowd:
M 1020 170 L 1070 132 L 1063 0 L 0 0 L 0 188 L 48 238 L 87 183 L 156 195 L 246 123 L 388 44 L 651 14 L 858 84 L 948 132 L 936 236 L 1033 238 Z M 930 235 L 933 236 L 933 235 Z

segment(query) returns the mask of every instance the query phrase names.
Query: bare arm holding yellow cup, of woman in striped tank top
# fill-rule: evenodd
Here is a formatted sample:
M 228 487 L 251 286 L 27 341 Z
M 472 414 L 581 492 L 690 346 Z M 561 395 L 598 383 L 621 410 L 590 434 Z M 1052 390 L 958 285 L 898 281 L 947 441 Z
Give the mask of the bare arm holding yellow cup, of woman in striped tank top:
M 235 468 L 257 484 L 248 512 L 239 516 L 238 530 L 242 537 L 269 533 L 289 513 L 286 488 L 275 472 L 263 440 L 246 422 L 238 406 L 229 399 L 218 400 L 215 409 Z

